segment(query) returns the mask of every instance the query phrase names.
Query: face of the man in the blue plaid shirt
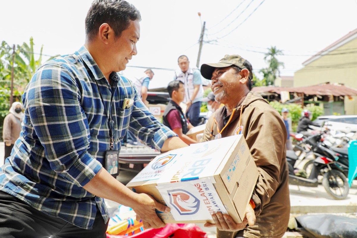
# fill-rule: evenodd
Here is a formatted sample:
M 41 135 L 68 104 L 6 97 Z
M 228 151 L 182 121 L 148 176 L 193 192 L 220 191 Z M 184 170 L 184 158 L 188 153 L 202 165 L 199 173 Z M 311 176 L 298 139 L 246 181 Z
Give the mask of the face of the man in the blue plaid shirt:
M 131 21 L 129 27 L 121 32 L 121 36 L 110 42 L 111 71 L 125 70 L 126 64 L 137 54 L 136 43 L 140 38 L 139 20 Z

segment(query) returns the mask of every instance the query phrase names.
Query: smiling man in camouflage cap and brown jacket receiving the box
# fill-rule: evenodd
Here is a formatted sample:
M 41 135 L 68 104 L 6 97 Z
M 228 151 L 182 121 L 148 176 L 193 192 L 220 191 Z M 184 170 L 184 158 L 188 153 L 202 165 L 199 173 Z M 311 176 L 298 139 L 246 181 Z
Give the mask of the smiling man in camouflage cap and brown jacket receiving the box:
M 290 216 L 285 124 L 266 100 L 250 91 L 252 65 L 241 56 L 203 64 L 201 74 L 212 80 L 216 101 L 225 105 L 208 120 L 201 142 L 242 134 L 259 171 L 243 222 L 217 213 L 212 215 L 215 224 L 205 226 L 216 226 L 217 237 L 280 238 Z

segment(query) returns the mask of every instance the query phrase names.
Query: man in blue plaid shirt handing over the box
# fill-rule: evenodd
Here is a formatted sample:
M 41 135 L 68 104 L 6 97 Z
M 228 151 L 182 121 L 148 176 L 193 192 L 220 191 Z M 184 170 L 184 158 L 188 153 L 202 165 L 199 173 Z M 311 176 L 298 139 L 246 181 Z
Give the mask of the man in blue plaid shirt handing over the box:
M 132 207 L 146 228 L 165 226 L 155 209 L 168 207 L 102 167 L 107 151 L 120 151 L 127 130 L 157 150 L 187 146 L 116 73 L 137 54 L 140 20 L 126 1 L 95 0 L 85 45 L 32 77 L 22 96 L 21 135 L 0 168 L 0 237 L 105 237 L 104 198 Z

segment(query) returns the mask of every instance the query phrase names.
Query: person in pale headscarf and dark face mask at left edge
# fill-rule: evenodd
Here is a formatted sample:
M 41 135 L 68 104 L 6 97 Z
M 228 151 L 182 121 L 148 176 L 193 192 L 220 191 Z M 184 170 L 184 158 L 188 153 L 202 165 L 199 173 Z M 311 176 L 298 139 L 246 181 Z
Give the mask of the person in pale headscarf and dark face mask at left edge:
M 2 127 L 2 138 L 5 142 L 4 158 L 10 156 L 12 147 L 14 147 L 15 141 L 20 136 L 21 122 L 24 116 L 21 102 L 12 103 L 9 112 L 4 119 L 4 126 Z

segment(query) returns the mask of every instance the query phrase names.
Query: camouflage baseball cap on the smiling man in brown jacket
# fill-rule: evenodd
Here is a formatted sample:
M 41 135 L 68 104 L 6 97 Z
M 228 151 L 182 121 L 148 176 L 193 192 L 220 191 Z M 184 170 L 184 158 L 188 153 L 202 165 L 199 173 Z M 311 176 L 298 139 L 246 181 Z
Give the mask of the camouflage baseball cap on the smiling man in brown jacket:
M 249 79 L 252 80 L 252 65 L 248 60 L 243 59 L 239 55 L 225 55 L 223 59 L 221 59 L 218 63 L 213 64 L 203 64 L 201 66 L 201 74 L 205 79 L 211 79 L 212 73 L 216 68 L 228 67 L 231 65 L 235 65 L 240 69 L 247 69 L 250 72 Z

